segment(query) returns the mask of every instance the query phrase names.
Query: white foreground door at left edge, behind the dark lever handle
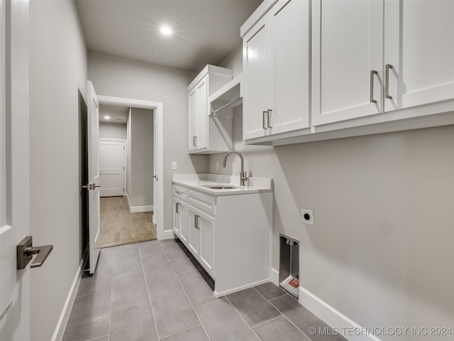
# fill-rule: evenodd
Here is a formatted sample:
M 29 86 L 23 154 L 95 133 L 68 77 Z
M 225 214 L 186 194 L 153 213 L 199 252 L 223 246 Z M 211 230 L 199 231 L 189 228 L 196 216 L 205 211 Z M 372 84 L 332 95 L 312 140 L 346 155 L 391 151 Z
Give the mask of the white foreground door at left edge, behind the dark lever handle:
M 16 244 L 30 235 L 28 16 L 27 0 L 0 0 L 0 340 L 8 341 L 31 339 L 30 266 L 16 270 Z

